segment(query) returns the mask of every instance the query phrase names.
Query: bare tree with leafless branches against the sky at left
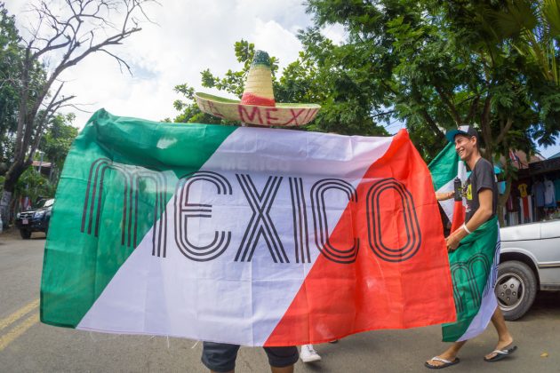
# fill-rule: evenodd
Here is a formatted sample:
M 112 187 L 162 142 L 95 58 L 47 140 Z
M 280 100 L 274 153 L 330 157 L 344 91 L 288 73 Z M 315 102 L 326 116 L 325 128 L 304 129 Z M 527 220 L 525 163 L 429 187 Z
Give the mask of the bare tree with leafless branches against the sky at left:
M 20 102 L 14 161 L 4 179 L 5 195 L 12 195 L 17 179 L 32 162 L 52 116 L 60 107 L 72 106 L 69 102 L 74 96 L 60 98 L 63 83 L 50 95 L 60 74 L 95 52 L 108 54 L 121 71 L 126 67 L 130 73 L 130 65 L 111 48 L 139 32 L 141 21 L 151 22 L 144 9 L 151 3 L 158 4 L 154 0 L 63 0 L 60 10 L 48 0 L 36 0 L 27 11 L 33 21 L 23 28 L 26 36 L 20 43 L 24 58 L 20 75 L 13 81 L 19 86 Z M 0 84 L 7 82 L 3 77 Z M 0 199 L 0 210 L 5 211 L 9 199 Z

